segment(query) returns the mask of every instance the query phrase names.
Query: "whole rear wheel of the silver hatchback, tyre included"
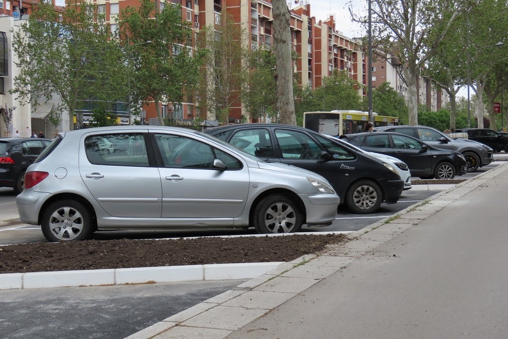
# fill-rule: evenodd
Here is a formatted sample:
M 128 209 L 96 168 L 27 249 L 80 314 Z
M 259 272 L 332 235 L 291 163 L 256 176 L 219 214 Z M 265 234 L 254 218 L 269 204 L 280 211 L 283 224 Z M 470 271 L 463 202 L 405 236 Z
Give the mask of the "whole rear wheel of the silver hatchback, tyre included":
M 41 220 L 48 241 L 85 240 L 92 233 L 90 211 L 74 200 L 59 200 L 46 207 Z

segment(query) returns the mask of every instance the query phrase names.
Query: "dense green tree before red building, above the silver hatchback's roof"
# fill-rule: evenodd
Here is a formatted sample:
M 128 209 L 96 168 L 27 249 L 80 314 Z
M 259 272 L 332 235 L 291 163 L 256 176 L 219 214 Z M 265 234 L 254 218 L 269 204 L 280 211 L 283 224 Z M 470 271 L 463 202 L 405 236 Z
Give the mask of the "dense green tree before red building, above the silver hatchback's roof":
M 139 7 L 121 11 L 118 24 L 126 64 L 132 68 L 130 101 L 144 105 L 153 102 L 158 121 L 164 126 L 161 103 L 192 101 L 206 51 L 190 47 L 192 30 L 182 21 L 181 5 L 170 3 L 160 10 L 158 4 L 141 0 Z

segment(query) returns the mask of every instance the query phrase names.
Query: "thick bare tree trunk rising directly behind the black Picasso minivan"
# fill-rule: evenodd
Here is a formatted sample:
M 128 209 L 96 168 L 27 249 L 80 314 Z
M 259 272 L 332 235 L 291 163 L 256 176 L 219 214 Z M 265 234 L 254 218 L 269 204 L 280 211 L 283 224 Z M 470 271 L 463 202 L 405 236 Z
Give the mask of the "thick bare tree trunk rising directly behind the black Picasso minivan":
M 288 5 L 283 0 L 273 0 L 273 46 L 277 67 L 279 119 L 281 124 L 296 125 L 290 13 Z

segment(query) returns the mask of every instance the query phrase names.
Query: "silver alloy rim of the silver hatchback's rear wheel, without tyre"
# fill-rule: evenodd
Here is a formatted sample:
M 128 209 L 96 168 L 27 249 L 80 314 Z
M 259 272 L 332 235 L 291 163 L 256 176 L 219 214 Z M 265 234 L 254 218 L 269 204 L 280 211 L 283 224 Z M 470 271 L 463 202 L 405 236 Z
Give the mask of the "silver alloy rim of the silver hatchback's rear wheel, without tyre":
M 83 230 L 83 217 L 72 207 L 60 207 L 49 218 L 49 230 L 58 240 L 73 240 Z

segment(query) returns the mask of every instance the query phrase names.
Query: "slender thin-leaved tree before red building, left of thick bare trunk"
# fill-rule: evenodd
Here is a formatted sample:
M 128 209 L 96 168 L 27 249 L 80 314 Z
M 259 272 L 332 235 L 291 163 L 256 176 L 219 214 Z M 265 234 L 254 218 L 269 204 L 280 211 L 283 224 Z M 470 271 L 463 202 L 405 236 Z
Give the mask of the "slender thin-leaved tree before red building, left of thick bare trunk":
M 241 91 L 249 76 L 249 48 L 247 32 L 235 23 L 232 15 L 223 8 L 214 24 L 200 32 L 199 46 L 209 52 L 204 59 L 205 75 L 199 85 L 199 106 L 209 119 L 229 124 L 232 107 L 241 106 Z

